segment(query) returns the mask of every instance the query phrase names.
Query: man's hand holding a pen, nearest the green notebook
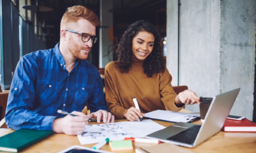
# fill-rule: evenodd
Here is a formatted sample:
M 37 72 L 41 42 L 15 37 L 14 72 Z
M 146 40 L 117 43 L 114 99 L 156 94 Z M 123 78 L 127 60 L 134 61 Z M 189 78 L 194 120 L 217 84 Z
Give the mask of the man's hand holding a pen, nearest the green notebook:
M 77 116 L 66 115 L 64 118 L 56 118 L 52 123 L 52 130 L 56 133 L 65 133 L 68 135 L 81 134 L 85 126 L 88 124 L 88 115 L 82 112 L 73 111 L 71 114 Z

